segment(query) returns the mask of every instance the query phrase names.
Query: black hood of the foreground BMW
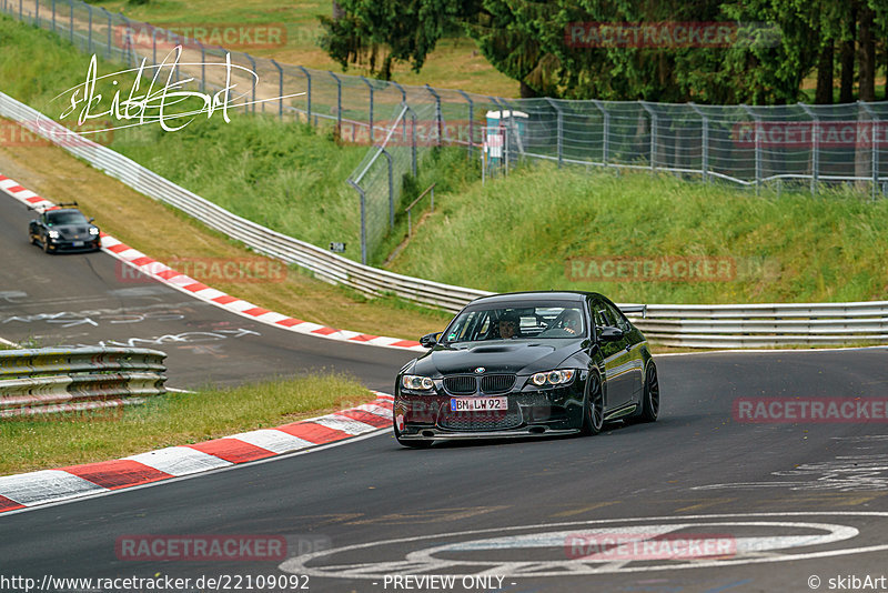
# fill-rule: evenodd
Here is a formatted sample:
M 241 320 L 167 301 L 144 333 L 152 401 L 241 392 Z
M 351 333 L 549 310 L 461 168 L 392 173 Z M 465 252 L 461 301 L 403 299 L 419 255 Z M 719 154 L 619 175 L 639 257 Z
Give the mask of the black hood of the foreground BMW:
M 426 376 L 472 373 L 534 373 L 557 369 L 583 348 L 583 340 L 516 340 L 437 345 L 420 358 L 413 373 Z

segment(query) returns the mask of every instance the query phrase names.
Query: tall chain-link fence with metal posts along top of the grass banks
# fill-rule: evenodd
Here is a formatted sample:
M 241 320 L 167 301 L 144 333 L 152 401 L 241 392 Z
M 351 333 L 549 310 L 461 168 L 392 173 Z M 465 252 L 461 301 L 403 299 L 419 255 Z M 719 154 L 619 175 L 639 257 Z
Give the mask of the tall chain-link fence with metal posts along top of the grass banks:
M 148 68 L 162 64 L 181 46 L 173 80 L 183 88 L 224 91 L 244 111 L 325 120 L 343 141 L 372 147 L 347 180 L 360 197 L 364 261 L 393 228 L 403 175 L 415 174 L 428 149 L 441 144 L 465 147 L 491 174 L 534 159 L 668 171 L 756 190 L 791 184 L 814 194 L 824 183 L 848 183 L 872 198 L 888 191 L 888 102 L 749 107 L 503 99 L 281 64 L 79 0 L 0 0 L 0 7 L 88 53 L 131 67 L 142 59 Z M 226 60 L 234 68 L 230 80 Z

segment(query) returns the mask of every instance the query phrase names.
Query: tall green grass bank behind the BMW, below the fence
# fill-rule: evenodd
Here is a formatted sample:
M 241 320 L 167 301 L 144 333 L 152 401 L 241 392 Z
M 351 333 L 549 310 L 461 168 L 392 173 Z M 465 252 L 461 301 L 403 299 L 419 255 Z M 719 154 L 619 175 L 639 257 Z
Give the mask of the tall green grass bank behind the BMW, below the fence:
M 850 190 L 756 197 L 670 175 L 539 165 L 445 194 L 440 204 L 393 260 L 394 271 L 503 292 L 596 290 L 622 302 L 888 294 L 888 200 L 872 202 Z M 733 274 L 650 277 L 630 269 L 606 277 L 604 264 L 620 258 L 708 258 L 731 264 Z M 575 260 L 583 263 L 578 273 Z

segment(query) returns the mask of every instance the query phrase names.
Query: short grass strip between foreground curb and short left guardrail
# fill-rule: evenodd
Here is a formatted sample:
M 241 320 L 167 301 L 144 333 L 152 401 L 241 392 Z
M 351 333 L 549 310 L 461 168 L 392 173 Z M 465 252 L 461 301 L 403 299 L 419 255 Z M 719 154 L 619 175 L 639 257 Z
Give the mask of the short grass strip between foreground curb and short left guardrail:
M 0 421 L 0 475 L 108 461 L 268 429 L 373 401 L 342 375 L 168 393 L 122 413 Z

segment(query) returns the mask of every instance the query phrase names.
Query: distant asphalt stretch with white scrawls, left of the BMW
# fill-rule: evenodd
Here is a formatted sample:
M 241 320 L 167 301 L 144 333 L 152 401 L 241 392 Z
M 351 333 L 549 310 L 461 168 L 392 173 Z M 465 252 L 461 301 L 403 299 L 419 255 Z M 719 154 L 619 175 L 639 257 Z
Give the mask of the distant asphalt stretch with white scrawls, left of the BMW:
M 7 340 L 153 348 L 167 352 L 168 385 L 180 389 L 326 369 L 391 392 L 395 372 L 413 358 L 229 313 L 129 268 L 122 273 L 125 264 L 104 253 L 47 255 L 28 243 L 33 217 L 0 194 L 0 336 Z

